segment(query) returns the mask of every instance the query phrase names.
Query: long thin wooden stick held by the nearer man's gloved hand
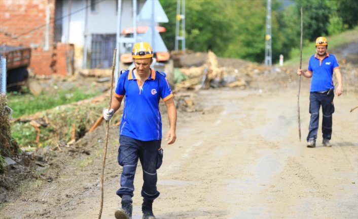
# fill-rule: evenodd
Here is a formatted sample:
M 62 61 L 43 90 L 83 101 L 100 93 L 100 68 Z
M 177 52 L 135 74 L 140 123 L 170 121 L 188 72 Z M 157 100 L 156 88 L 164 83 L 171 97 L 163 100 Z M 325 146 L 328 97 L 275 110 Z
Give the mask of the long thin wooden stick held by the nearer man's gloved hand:
M 112 105 L 112 92 L 113 92 L 114 72 L 115 72 L 115 66 L 116 66 L 116 54 L 117 54 L 117 48 L 115 49 L 115 51 L 113 53 L 111 92 L 110 92 L 110 103 L 109 103 L 108 110 L 111 110 L 111 105 Z M 103 149 L 102 172 L 101 172 L 101 204 L 100 204 L 98 219 L 101 218 L 102 208 L 103 208 L 103 175 L 104 175 L 104 164 L 105 164 L 105 156 L 107 154 L 109 133 L 110 133 L 110 121 L 108 120 L 108 121 L 106 121 L 105 144 L 104 144 L 105 146 Z

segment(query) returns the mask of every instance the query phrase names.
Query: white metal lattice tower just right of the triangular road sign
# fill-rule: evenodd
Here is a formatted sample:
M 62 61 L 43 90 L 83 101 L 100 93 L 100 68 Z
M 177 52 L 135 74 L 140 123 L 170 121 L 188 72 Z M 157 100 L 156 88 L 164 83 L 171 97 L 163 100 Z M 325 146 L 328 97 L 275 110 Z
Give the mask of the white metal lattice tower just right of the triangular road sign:
M 180 25 L 182 24 L 182 29 Z M 179 41 L 182 41 L 182 50 L 185 50 L 185 0 L 176 2 L 176 25 L 175 25 L 175 51 L 178 50 Z

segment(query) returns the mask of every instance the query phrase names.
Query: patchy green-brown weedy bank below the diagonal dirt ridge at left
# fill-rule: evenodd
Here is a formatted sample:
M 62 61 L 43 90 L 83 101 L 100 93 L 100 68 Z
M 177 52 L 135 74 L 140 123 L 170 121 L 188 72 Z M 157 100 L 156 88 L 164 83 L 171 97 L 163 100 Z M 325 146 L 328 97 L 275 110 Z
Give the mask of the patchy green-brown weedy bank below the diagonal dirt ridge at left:
M 59 142 L 66 144 L 73 138 L 81 138 L 90 126 L 100 116 L 100 112 L 108 103 L 89 103 L 80 106 L 67 106 L 60 109 L 52 109 L 43 113 L 40 117 L 46 117 L 49 121 L 47 127 L 40 127 L 40 139 L 36 141 L 38 132 L 28 122 L 14 122 L 11 126 L 11 134 L 23 148 L 57 145 Z

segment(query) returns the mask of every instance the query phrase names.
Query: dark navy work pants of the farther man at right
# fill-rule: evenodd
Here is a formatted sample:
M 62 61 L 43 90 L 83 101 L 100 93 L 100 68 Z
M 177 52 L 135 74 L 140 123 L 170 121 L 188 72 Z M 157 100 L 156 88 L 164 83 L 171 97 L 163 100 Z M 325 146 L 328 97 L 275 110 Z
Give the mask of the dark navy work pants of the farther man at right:
M 333 105 L 334 92 L 331 90 L 330 94 L 327 92 L 311 92 L 309 95 L 309 113 L 311 119 L 309 121 L 309 132 L 307 141 L 309 139 L 316 139 L 319 123 L 319 108 L 322 106 L 322 136 L 325 139 L 332 137 L 332 114 L 334 113 Z

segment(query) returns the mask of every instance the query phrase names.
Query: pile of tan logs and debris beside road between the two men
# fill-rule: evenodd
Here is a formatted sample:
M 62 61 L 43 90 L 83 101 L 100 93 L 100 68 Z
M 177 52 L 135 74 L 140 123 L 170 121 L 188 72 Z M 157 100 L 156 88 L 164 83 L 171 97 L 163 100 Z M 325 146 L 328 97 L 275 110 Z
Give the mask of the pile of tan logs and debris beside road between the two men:
M 181 54 L 182 59 L 186 59 L 188 54 Z M 189 54 L 190 55 L 190 54 Z M 178 55 L 177 55 L 178 56 Z M 197 58 L 198 62 L 206 60 L 201 65 L 196 65 L 193 60 Z M 177 58 L 180 60 L 180 58 Z M 188 59 L 188 58 L 187 58 Z M 255 82 L 260 81 L 260 77 L 265 79 L 272 77 L 274 79 L 277 74 L 283 74 L 287 82 L 292 75 L 292 71 L 284 68 L 266 67 L 254 62 L 244 61 L 233 58 L 218 58 L 212 51 L 208 51 L 206 56 L 200 54 L 191 54 L 190 59 L 192 66 L 178 68 L 175 74 L 183 74 L 186 80 L 175 85 L 176 90 L 183 89 L 208 89 L 218 87 L 238 87 L 245 89 L 248 87 L 259 87 Z M 181 60 L 181 64 L 186 61 Z M 180 66 L 180 65 L 177 65 Z M 176 76 L 178 77 L 178 76 Z

